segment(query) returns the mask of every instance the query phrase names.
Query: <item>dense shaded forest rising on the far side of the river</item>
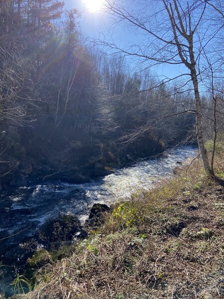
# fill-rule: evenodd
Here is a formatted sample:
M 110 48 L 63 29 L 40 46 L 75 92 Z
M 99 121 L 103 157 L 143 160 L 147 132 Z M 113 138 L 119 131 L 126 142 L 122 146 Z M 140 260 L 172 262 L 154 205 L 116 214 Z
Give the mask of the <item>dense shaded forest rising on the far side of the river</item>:
M 130 156 L 196 141 L 195 114 L 185 113 L 194 111 L 194 93 L 182 81 L 161 82 L 150 68 L 131 72 L 122 51 L 106 55 L 90 46 L 79 12 L 61 1 L 0 5 L 3 185 L 22 184 L 24 175 L 81 182 Z M 224 123 L 222 79 L 214 77 L 214 84 L 214 95 L 211 84 L 202 95 L 207 139 L 214 105 L 217 126 Z

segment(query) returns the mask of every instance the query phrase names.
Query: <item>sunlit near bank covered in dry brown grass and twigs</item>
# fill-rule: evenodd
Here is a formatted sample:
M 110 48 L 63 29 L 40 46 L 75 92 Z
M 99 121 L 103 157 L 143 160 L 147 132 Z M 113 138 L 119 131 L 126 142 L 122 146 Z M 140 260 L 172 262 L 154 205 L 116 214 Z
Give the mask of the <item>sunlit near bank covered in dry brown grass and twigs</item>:
M 60 261 L 48 253 L 25 298 L 223 298 L 223 216 L 224 188 L 195 160 L 162 187 L 117 203 Z

